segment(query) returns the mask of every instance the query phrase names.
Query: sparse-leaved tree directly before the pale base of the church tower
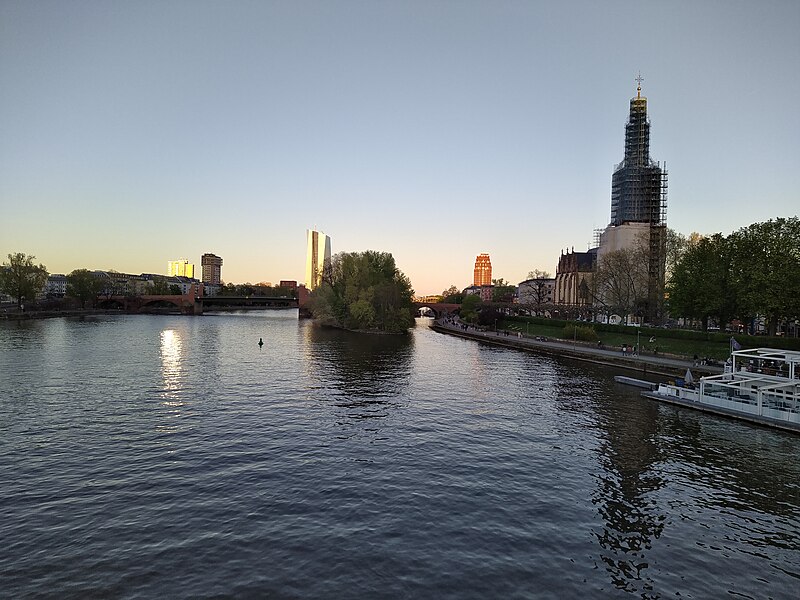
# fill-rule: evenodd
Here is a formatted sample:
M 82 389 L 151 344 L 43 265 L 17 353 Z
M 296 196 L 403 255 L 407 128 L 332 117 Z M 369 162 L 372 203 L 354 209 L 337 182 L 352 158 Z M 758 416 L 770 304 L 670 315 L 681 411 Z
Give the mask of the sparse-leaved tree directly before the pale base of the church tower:
M 604 254 L 592 277 L 595 301 L 626 317 L 643 314 L 647 302 L 647 256 L 640 247 L 623 248 Z

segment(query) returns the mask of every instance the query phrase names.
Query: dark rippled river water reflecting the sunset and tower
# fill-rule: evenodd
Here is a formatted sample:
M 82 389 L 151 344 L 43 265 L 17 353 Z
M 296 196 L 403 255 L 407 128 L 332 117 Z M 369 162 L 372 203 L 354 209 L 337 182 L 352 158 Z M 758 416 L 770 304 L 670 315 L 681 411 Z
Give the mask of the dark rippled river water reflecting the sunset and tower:
M 0 322 L 0 596 L 797 597 L 800 436 L 425 323 Z

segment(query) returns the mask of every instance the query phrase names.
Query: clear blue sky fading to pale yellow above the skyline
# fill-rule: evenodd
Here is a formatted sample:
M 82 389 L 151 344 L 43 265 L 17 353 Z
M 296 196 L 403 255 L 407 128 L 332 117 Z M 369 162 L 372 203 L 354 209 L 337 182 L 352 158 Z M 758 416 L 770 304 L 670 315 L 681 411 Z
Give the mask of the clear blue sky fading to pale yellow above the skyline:
M 668 225 L 798 214 L 796 0 L 0 2 L 0 256 L 223 279 L 391 252 L 419 294 L 608 224 L 634 77 Z

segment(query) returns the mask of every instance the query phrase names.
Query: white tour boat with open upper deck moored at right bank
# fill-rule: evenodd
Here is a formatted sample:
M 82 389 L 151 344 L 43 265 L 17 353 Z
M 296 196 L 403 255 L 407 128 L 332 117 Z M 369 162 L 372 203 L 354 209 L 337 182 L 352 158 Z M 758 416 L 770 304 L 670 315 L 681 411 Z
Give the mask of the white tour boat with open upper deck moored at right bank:
M 736 350 L 722 375 L 659 384 L 642 395 L 800 433 L 800 352 Z

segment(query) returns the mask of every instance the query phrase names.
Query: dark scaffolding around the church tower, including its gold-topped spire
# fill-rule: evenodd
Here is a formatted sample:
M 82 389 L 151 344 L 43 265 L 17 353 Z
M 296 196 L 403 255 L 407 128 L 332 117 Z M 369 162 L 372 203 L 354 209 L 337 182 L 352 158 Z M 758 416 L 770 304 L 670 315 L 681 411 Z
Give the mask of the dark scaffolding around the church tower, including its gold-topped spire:
M 647 318 L 658 322 L 664 299 L 667 240 L 667 170 L 650 158 L 650 120 L 642 77 L 636 78 L 625 124 L 625 157 L 611 177 L 610 228 L 630 225 L 648 237 Z M 637 224 L 634 226 L 634 224 Z M 607 229 L 608 231 L 608 229 Z

